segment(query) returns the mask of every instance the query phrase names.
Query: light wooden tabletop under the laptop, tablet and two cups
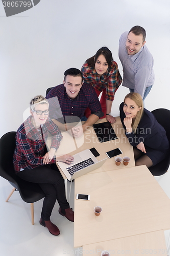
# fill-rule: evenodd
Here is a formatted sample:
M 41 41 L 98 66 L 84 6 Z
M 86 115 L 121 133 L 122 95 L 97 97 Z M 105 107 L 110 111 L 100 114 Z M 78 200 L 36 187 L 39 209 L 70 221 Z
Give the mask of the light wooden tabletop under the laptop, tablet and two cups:
M 99 122 L 106 122 L 106 119 L 99 119 L 98 122 L 96 123 L 99 123 Z M 77 123 L 77 125 L 80 125 L 80 124 L 81 122 Z M 125 135 L 125 129 L 123 128 L 122 122 L 120 121 L 119 117 L 116 117 L 116 123 L 112 124 L 112 126 L 118 139 L 102 142 L 102 143 L 99 142 L 92 126 L 89 127 L 89 129 L 87 129 L 80 138 L 76 138 L 76 139 L 72 137 L 72 135 L 70 134 L 70 131 L 62 132 L 63 139 L 60 143 L 56 156 L 60 156 L 64 154 L 75 155 L 80 151 L 86 150 L 87 148 L 95 147 L 100 154 L 100 156 L 97 157 L 97 159 L 100 161 L 107 157 L 106 156 L 107 151 L 110 151 L 110 150 L 113 150 L 114 148 L 119 147 L 120 150 L 122 150 L 123 152 L 123 154 L 121 154 L 120 156 L 122 158 L 124 156 L 128 156 L 131 159 L 128 166 L 125 166 L 123 163 L 121 163 L 120 166 L 115 165 L 115 160 L 114 160 L 115 157 L 113 157 L 108 159 L 101 168 L 93 170 L 91 174 L 103 172 L 105 170 L 120 169 L 120 168 L 135 166 L 133 147 L 130 145 Z M 50 143 L 51 143 L 51 140 L 48 139 L 47 141 L 48 147 L 50 146 Z M 66 179 L 62 171 L 61 171 L 61 174 L 63 178 Z

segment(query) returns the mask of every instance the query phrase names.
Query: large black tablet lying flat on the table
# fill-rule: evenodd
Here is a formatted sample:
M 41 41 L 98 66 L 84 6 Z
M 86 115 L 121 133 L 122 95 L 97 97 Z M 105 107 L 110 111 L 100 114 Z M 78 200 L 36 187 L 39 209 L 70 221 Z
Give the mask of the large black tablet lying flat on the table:
M 100 142 L 117 139 L 113 127 L 109 122 L 93 124 L 93 129 L 98 136 Z

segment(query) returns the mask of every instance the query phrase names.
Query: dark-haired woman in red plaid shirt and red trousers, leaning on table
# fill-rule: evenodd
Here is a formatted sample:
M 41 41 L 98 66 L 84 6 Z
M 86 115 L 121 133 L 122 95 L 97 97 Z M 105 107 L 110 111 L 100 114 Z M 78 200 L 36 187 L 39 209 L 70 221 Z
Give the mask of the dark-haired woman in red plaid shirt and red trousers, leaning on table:
M 122 77 L 111 51 L 107 47 L 102 47 L 94 56 L 86 60 L 81 71 L 84 82 L 91 84 L 98 96 L 103 92 L 100 100 L 102 112 L 104 112 L 102 118 L 114 123 L 116 119 L 110 112 L 114 94 L 122 82 Z M 86 109 L 85 116 L 88 118 L 89 115 L 90 111 Z

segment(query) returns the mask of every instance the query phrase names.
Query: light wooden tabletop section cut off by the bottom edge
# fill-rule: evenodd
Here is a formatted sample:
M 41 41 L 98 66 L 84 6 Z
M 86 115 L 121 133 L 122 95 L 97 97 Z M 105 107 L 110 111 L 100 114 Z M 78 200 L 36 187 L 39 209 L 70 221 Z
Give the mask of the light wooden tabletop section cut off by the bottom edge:
M 163 230 L 137 234 L 136 236 L 119 238 L 101 243 L 83 245 L 82 253 L 85 255 L 99 255 L 103 250 L 108 250 L 110 256 L 115 255 L 167 255 Z M 81 254 L 82 255 L 82 254 Z

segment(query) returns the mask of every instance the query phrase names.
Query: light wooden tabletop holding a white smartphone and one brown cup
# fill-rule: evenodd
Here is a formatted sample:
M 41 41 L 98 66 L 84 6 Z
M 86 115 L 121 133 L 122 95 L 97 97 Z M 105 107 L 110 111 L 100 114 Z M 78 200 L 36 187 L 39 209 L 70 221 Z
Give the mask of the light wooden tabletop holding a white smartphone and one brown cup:
M 75 247 L 170 229 L 170 200 L 145 165 L 79 177 L 77 193 L 90 201 L 75 199 Z

